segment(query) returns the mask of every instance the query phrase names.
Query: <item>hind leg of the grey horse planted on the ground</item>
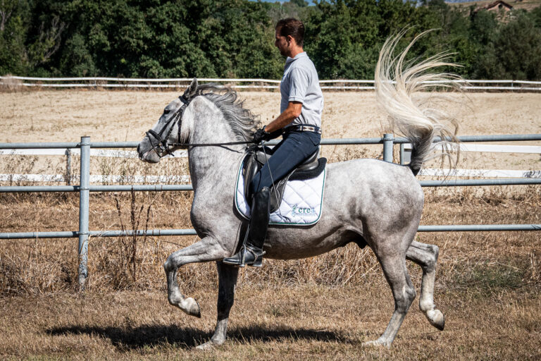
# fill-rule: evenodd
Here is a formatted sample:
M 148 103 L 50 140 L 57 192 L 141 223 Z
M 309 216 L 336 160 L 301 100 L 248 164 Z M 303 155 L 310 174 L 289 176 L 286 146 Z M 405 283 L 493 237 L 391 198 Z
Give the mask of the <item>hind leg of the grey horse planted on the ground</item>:
M 375 341 L 368 341 L 364 345 L 385 345 L 390 347 L 394 337 L 406 317 L 406 313 L 415 298 L 415 288 L 411 283 L 406 269 L 404 253 L 396 252 L 400 243 L 387 244 L 387 247 L 377 247 L 376 256 L 380 261 L 385 279 L 392 290 L 394 298 L 394 312 L 385 332 Z M 387 251 L 387 252 L 386 252 Z

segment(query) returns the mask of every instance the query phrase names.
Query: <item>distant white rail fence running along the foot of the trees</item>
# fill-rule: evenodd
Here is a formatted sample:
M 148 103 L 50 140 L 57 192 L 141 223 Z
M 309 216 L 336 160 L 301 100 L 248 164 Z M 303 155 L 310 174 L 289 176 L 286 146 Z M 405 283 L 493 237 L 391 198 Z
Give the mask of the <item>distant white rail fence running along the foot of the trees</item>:
M 20 83 L 13 82 L 19 80 Z M 226 83 L 235 89 L 278 89 L 280 80 L 273 79 L 232 79 L 232 78 L 199 78 L 199 82 Z M 106 88 L 171 88 L 187 87 L 192 78 L 36 78 L 24 76 L 0 76 L 0 85 L 23 87 L 106 87 Z M 540 81 L 531 80 L 434 80 L 425 83 L 442 84 L 458 82 L 463 90 L 507 90 L 507 91 L 539 91 Z M 335 79 L 320 80 L 321 89 L 326 90 L 373 90 L 374 80 Z

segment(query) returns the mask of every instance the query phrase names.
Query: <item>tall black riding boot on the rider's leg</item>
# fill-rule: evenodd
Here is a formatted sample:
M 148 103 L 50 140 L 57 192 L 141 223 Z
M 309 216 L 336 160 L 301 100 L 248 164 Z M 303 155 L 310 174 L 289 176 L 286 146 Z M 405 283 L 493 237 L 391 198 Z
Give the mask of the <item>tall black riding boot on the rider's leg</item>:
M 224 258 L 223 263 L 233 264 L 237 267 L 244 265 L 261 267 L 263 261 L 263 242 L 267 234 L 268 219 L 270 217 L 270 190 L 265 187 L 254 195 L 251 204 L 251 219 L 248 228 L 248 238 L 244 245 L 232 257 Z

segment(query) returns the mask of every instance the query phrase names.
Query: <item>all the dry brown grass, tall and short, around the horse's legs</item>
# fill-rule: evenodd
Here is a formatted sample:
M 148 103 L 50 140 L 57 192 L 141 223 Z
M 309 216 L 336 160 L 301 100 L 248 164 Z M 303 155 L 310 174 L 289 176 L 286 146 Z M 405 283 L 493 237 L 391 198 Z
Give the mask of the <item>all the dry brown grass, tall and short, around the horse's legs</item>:
M 426 190 L 423 224 L 539 223 L 540 188 Z M 149 228 L 187 228 L 189 193 L 96 194 L 91 228 L 132 224 L 132 209 L 149 213 Z M 157 197 L 157 198 L 156 198 Z M 120 216 L 116 202 L 120 204 Z M 39 219 L 32 207 L 43 207 Z M 2 195 L 1 214 L 14 231 L 75 229 L 77 197 Z M 178 209 L 182 209 L 179 212 Z M 140 222 L 147 221 L 147 205 Z M 60 213 L 61 215 L 59 215 Z M 137 218 L 137 214 L 136 218 Z M 184 216 L 179 216 L 184 215 Z M 61 223 L 64 222 L 64 223 Z M 72 222 L 70 224 L 70 222 Z M 77 240 L 3 240 L 0 243 L 0 355 L 19 358 L 290 360 L 535 360 L 541 356 L 541 244 L 537 232 L 419 233 L 440 246 L 435 300 L 446 314 L 435 331 L 416 303 L 391 350 L 363 348 L 392 312 L 392 295 L 371 250 L 350 244 L 320 257 L 266 260 L 240 273 L 229 341 L 209 353 L 216 319 L 216 270 L 192 264 L 180 287 L 199 300 L 202 319 L 167 305 L 161 264 L 194 237 L 139 238 L 137 277 L 130 273 L 126 238 L 92 238 L 88 290 L 77 294 Z M 128 257 L 126 257 L 128 254 Z M 409 264 L 419 292 L 421 270 Z M 259 357 L 259 356 L 258 356 Z

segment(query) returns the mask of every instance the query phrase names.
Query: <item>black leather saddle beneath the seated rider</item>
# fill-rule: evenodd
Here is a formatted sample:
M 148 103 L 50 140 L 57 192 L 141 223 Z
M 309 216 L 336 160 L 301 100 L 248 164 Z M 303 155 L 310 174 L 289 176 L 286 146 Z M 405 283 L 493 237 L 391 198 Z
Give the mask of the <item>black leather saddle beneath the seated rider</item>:
M 270 148 L 266 147 L 263 152 L 263 147 L 255 146 L 247 149 L 244 161 L 242 163 L 242 175 L 244 176 L 244 197 L 246 200 L 251 200 L 254 195 L 250 192 L 250 183 L 256 173 L 266 164 L 267 159 L 271 155 Z M 318 158 L 319 149 L 314 152 L 306 161 L 302 162 L 292 172 L 287 174 L 282 179 L 275 179 L 275 186 L 270 188 L 270 213 L 275 212 L 284 195 L 284 188 L 287 181 L 304 180 L 316 178 L 325 169 L 327 164 L 326 158 Z

